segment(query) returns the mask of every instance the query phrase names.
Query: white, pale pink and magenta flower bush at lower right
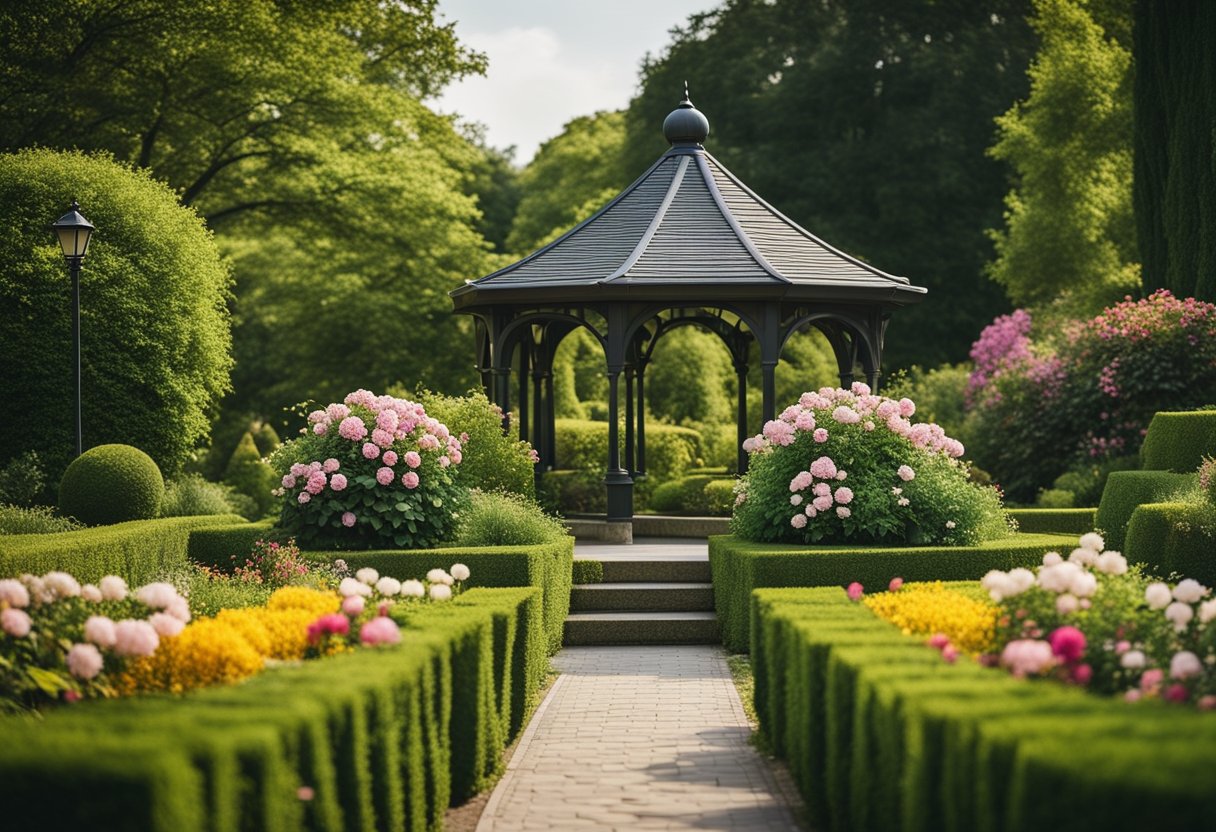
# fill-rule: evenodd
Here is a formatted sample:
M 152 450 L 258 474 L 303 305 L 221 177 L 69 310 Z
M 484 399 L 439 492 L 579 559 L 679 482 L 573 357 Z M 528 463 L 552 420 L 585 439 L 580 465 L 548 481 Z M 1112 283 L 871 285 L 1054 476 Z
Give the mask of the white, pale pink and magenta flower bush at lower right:
M 980 584 L 1001 607 L 987 663 L 1132 702 L 1216 708 L 1216 598 L 1199 581 L 1152 580 L 1090 533 L 1066 556 Z

